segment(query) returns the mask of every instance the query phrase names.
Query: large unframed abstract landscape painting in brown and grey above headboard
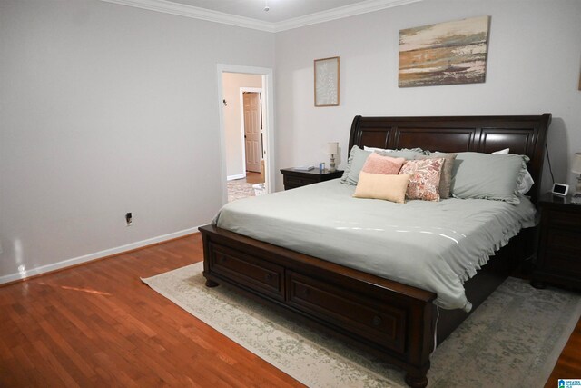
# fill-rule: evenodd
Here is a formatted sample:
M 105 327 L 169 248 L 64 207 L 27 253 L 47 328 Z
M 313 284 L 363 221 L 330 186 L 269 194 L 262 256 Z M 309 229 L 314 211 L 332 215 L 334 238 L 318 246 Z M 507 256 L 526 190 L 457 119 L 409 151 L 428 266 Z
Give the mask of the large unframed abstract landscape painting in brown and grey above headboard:
M 399 31 L 399 87 L 486 80 L 490 16 Z

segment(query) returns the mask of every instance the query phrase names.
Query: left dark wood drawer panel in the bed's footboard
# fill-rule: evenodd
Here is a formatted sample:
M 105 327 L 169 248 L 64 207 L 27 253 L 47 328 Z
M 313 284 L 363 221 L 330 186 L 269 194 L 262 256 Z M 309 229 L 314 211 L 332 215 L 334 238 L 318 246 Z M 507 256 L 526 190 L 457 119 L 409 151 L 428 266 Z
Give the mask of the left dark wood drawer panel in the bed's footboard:
M 224 276 L 237 284 L 265 293 L 272 298 L 284 300 L 283 267 L 250 254 L 234 252 L 219 244 L 210 243 L 209 248 L 208 264 L 212 274 Z

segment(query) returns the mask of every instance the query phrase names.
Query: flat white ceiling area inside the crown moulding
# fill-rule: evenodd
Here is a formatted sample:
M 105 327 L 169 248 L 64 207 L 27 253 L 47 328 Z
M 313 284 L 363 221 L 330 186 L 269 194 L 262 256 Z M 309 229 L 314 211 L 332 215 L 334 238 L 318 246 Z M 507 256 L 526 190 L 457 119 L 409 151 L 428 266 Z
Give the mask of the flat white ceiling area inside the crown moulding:
M 345 5 L 369 3 L 367 0 L 171 0 L 224 14 L 249 17 L 263 22 L 279 23 L 316 14 Z M 269 11 L 264 6 L 269 5 Z

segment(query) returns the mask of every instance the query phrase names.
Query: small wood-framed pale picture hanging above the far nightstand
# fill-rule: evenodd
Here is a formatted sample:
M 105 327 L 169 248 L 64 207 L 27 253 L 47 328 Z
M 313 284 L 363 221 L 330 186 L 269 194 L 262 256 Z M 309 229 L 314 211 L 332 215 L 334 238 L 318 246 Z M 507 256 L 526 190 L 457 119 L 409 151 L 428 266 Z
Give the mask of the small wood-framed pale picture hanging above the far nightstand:
M 315 106 L 339 106 L 339 56 L 315 59 Z

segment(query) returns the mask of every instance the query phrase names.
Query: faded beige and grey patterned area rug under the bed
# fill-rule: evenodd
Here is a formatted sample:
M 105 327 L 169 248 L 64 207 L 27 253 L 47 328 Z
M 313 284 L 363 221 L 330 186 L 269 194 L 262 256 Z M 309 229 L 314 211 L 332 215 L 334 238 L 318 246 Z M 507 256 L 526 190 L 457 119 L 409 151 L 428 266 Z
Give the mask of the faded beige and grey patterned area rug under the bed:
M 404 387 L 404 372 L 220 285 L 202 263 L 142 279 L 310 387 Z M 581 295 L 508 278 L 431 356 L 430 387 L 542 387 L 581 315 Z

